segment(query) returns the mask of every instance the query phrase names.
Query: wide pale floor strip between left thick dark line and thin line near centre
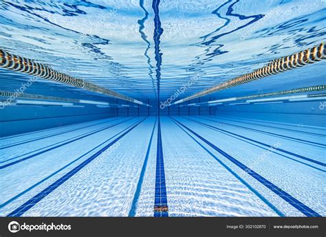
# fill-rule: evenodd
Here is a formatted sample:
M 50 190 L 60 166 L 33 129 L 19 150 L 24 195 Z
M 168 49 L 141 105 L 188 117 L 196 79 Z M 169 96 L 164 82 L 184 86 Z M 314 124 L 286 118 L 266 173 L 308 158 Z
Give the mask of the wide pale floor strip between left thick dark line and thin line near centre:
M 24 210 L 23 216 L 127 216 L 131 209 L 133 196 L 142 173 L 146 148 L 153 131 L 155 117 L 147 118 L 128 131 L 112 145 L 110 153 L 100 156 L 94 154 L 73 175 L 65 175 L 36 194 L 40 199 L 32 208 L 18 207 L 10 216 Z M 129 128 L 130 129 L 130 128 Z M 142 133 L 144 139 L 139 139 Z M 131 146 L 132 144 L 132 146 Z M 141 159 L 140 159 L 141 158 Z M 51 192 L 48 192 L 50 190 Z M 151 187 L 152 192 L 154 186 Z M 46 194 L 46 195 L 45 195 Z M 29 203 L 24 203 L 26 208 Z M 151 205 L 153 214 L 153 201 Z

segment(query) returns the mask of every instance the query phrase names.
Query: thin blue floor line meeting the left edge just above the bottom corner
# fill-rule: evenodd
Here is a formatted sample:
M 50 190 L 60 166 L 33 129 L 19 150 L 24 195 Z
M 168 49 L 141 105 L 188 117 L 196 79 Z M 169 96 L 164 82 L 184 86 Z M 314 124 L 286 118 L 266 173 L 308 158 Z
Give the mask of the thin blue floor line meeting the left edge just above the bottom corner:
M 140 121 L 140 120 L 139 120 Z M 138 122 L 139 122 L 138 121 Z M 135 122 L 134 124 L 136 124 L 137 122 Z M 53 172 L 52 174 L 50 174 L 49 176 L 45 177 L 44 179 L 42 179 L 41 181 L 35 183 L 34 185 L 32 185 L 30 188 L 25 189 L 23 192 L 17 194 L 16 196 L 12 197 L 11 199 L 9 199 L 8 201 L 0 204 L 0 209 L 6 205 L 8 205 L 9 203 L 11 203 L 12 201 L 18 199 L 20 196 L 23 196 L 23 194 L 25 194 L 26 192 L 29 192 L 30 190 L 32 190 L 33 188 L 35 188 L 36 186 L 40 185 L 41 183 L 43 183 L 44 181 L 46 181 L 47 179 L 50 179 L 51 177 L 53 177 L 55 174 L 58 174 L 58 172 L 61 172 L 62 170 L 64 170 L 65 168 L 71 166 L 73 163 L 75 163 L 76 161 L 82 159 L 83 157 L 85 157 L 86 155 L 88 155 L 89 153 L 91 153 L 93 150 L 96 150 L 97 148 L 99 148 L 100 146 L 102 146 L 103 144 L 106 144 L 107 142 L 109 142 L 109 140 L 113 139 L 113 137 L 118 136 L 120 133 L 123 133 L 124 131 L 127 131 L 129 128 L 131 128 L 131 126 L 133 126 L 134 124 L 131 124 L 130 126 L 128 126 L 127 128 L 124 128 L 122 131 L 120 131 L 119 133 L 117 133 L 116 135 L 113 135 L 112 137 L 110 137 L 109 139 L 105 140 L 105 142 L 102 142 L 101 144 L 99 144 L 98 146 L 92 148 L 91 150 L 87 151 L 87 153 L 81 155 L 80 157 L 78 157 L 77 159 L 74 159 L 73 161 L 71 161 L 70 163 L 68 163 L 67 165 L 63 166 L 63 168 L 60 168 L 58 170 L 56 170 L 56 172 Z

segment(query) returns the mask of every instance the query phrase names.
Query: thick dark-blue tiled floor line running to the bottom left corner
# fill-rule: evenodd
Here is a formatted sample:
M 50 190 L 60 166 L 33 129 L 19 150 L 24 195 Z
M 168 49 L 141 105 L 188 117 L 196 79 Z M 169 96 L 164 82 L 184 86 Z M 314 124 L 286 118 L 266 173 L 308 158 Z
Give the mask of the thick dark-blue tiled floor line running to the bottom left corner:
M 24 214 L 25 212 L 27 212 L 28 210 L 30 210 L 32 207 L 34 207 L 34 205 L 36 205 L 36 203 L 39 203 L 39 201 L 41 201 L 42 199 L 44 199 L 45 196 L 49 195 L 56 188 L 58 188 L 58 186 L 60 186 L 61 184 L 65 183 L 65 181 L 67 181 L 68 179 L 70 179 L 74 174 L 76 174 L 76 172 L 78 172 L 79 170 L 81 170 L 82 168 L 84 168 L 85 166 L 87 166 L 87 164 L 89 164 L 91 161 L 93 161 L 94 159 L 96 159 L 96 157 L 98 157 L 102 152 L 104 152 L 105 150 L 107 150 L 107 148 L 109 148 L 110 146 L 112 146 L 113 144 L 115 144 L 116 142 L 118 142 L 118 140 L 120 140 L 122 137 L 124 137 L 125 135 L 127 135 L 127 133 L 129 133 L 130 131 L 132 131 L 133 128 L 135 128 L 136 126 L 138 126 L 140 123 L 144 122 L 144 120 L 146 120 L 146 118 L 144 118 L 143 120 L 141 120 L 137 124 L 133 125 L 127 131 L 125 131 L 124 133 L 122 133 L 122 135 L 120 135 L 119 137 L 117 137 L 116 139 L 114 139 L 112 142 L 110 142 L 109 144 L 107 144 L 107 146 L 105 146 L 104 148 L 100 149 L 94 155 L 91 155 L 91 157 L 89 157 L 88 159 L 86 159 L 85 161 L 83 161 L 83 163 L 80 163 L 73 170 L 70 170 L 69 172 L 67 172 L 67 174 L 63 175 L 63 177 L 61 177 L 60 179 L 56 180 L 54 183 L 52 183 L 50 186 L 48 186 L 47 188 L 45 188 L 43 191 L 39 192 L 39 194 L 36 194 L 35 196 L 33 196 L 32 199 L 30 199 L 30 200 L 26 201 L 25 203 L 23 203 L 23 205 L 21 205 L 20 207 L 18 207 L 16 210 L 14 210 L 13 212 L 11 212 L 7 216 L 19 217 L 22 214 Z

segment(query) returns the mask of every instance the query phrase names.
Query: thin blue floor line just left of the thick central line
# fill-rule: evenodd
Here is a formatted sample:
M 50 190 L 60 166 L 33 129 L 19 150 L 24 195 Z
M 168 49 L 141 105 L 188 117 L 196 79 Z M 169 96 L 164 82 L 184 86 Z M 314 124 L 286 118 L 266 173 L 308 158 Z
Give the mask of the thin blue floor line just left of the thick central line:
M 130 208 L 128 216 L 135 216 L 135 212 L 137 210 L 137 204 L 138 204 L 138 200 L 140 197 L 140 191 L 142 190 L 142 183 L 144 181 L 144 174 L 146 171 L 147 161 L 149 160 L 149 152 L 151 151 L 151 144 L 152 144 L 153 135 L 154 135 L 154 131 L 155 131 L 156 121 L 157 121 L 157 117 L 155 118 L 155 123 L 154 123 L 153 130 L 151 133 L 151 138 L 149 139 L 149 146 L 147 146 L 146 156 L 144 159 L 144 163 L 142 165 L 142 171 L 140 172 L 140 177 L 138 179 L 135 194 L 133 195 L 133 201 L 131 203 L 131 208 Z

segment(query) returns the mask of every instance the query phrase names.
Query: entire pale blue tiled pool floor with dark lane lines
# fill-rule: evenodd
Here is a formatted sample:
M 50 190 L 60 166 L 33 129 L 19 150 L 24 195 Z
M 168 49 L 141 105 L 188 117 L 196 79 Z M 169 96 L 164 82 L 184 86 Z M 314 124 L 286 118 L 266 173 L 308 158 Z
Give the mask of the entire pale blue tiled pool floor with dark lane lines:
M 325 216 L 325 128 L 110 117 L 0 139 L 1 216 Z

